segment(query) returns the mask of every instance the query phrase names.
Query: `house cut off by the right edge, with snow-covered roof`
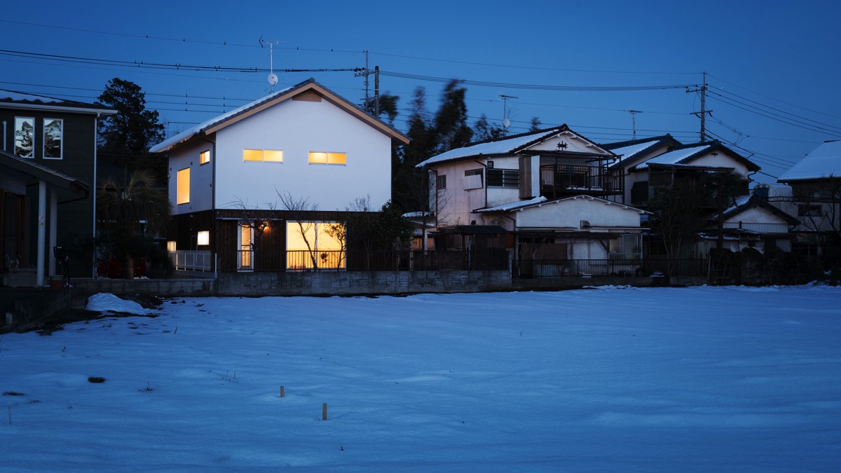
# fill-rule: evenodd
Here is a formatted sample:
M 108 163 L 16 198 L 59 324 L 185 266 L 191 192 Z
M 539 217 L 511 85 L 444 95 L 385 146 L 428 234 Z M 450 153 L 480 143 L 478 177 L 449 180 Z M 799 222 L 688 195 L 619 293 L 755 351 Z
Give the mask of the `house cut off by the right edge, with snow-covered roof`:
M 827 141 L 797 162 L 779 179 L 791 187 L 791 203 L 771 202 L 796 215 L 796 231 L 805 247 L 825 252 L 841 245 L 841 141 Z

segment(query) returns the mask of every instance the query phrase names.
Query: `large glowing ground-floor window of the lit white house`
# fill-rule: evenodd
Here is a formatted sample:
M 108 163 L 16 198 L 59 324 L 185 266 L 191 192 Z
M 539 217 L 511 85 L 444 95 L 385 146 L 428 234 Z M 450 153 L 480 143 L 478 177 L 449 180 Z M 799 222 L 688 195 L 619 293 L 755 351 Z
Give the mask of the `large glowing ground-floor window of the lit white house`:
M 287 221 L 286 266 L 290 269 L 344 268 L 345 227 L 336 222 Z

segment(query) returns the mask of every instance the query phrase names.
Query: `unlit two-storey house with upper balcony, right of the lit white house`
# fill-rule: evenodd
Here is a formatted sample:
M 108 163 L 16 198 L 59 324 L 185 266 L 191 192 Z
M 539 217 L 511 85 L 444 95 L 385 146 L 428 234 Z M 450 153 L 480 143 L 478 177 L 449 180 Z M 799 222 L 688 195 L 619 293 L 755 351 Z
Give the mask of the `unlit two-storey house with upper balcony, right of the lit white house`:
M 605 269 L 562 260 L 640 258 L 643 212 L 606 199 L 623 193 L 616 161 L 567 125 L 431 157 L 418 167 L 430 172 L 436 249 L 507 249 L 521 275 Z

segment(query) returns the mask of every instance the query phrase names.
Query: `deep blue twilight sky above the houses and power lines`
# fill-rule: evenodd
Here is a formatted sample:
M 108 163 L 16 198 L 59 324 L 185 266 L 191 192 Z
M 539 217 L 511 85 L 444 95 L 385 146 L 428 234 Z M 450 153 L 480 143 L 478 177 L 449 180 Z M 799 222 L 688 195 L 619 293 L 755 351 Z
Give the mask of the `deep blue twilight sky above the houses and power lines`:
M 826 0 L 45 0 L 0 18 L 0 88 L 93 102 L 120 77 L 143 88 L 172 135 L 269 93 L 270 60 L 276 90 L 315 77 L 359 103 L 363 77 L 317 70 L 364 67 L 368 50 L 381 91 L 400 97 L 401 130 L 415 88 L 434 113 L 444 82 L 458 78 L 468 81 L 470 125 L 482 114 L 499 124 L 505 110 L 510 133 L 538 117 L 606 143 L 632 139 L 635 120 L 637 138 L 690 143 L 701 96 L 686 90 L 706 72 L 711 137 L 759 164 L 756 180 L 775 182 L 841 139 L 839 13 Z M 261 38 L 276 42 L 272 58 Z

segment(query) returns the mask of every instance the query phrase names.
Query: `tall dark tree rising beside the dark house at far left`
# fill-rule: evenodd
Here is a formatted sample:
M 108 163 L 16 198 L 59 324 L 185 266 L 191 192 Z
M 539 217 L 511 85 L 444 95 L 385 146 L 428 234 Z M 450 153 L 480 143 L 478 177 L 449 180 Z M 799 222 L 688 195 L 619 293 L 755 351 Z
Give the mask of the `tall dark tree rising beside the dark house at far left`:
M 149 148 L 164 139 L 156 110 L 146 109 L 145 93 L 135 82 L 114 77 L 99 96 L 98 105 L 117 110 L 98 123 L 100 155 L 127 171 L 150 168 L 156 178 L 166 177 L 166 163 L 153 159 Z

